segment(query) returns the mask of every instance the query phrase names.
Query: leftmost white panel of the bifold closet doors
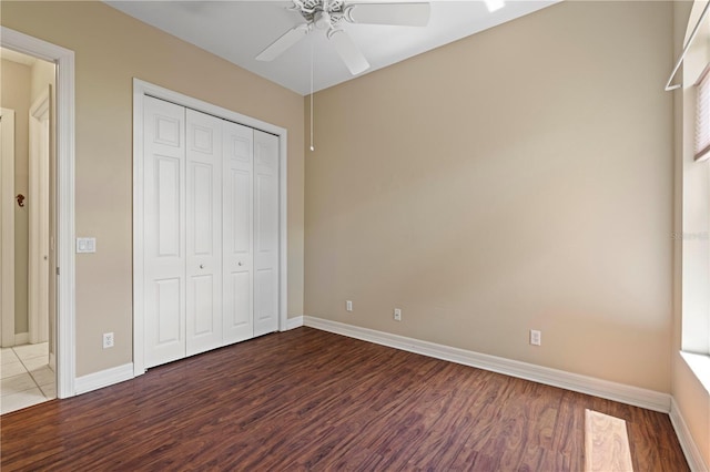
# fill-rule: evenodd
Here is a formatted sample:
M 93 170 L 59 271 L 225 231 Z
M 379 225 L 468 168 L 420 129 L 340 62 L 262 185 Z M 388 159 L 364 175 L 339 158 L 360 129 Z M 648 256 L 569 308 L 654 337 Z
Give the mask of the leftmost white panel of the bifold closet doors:
M 185 109 L 144 99 L 145 367 L 185 357 Z

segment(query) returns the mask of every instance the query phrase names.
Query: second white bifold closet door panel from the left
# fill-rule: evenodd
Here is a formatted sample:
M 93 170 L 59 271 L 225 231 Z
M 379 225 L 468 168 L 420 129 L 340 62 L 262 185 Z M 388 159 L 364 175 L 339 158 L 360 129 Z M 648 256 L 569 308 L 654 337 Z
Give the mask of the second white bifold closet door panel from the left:
M 186 353 L 222 346 L 222 120 L 187 110 Z

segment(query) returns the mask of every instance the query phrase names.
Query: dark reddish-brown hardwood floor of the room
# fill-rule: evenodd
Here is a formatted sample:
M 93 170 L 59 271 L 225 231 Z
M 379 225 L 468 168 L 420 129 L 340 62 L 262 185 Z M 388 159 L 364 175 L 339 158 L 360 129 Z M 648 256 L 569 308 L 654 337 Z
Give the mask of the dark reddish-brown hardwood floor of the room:
M 667 414 L 298 328 L 0 417 L 14 470 L 580 471 L 585 409 L 636 471 L 684 471 Z

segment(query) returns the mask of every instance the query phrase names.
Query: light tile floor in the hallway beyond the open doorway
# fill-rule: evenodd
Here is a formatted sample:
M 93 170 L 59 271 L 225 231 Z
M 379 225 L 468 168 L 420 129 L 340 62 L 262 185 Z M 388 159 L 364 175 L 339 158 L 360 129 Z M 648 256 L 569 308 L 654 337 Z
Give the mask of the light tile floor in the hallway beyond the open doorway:
M 57 397 L 47 342 L 2 348 L 0 361 L 0 414 Z

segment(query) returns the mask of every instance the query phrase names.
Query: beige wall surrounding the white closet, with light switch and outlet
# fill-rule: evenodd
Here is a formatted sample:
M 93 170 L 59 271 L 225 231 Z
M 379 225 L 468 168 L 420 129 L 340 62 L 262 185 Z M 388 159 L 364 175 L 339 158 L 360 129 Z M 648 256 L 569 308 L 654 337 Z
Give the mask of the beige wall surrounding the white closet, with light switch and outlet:
M 75 53 L 77 374 L 132 360 L 132 79 L 288 130 L 288 314 L 303 312 L 303 100 L 100 2 L 1 4 L 4 27 Z M 115 347 L 101 349 L 101 335 Z

